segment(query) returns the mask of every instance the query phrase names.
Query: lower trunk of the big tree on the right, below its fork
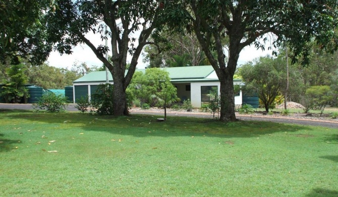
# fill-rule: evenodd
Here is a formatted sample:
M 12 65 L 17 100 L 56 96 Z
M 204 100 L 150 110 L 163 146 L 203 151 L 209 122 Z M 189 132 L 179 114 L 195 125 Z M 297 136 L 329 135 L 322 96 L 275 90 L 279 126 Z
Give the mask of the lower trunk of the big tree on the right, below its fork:
M 236 121 L 233 78 L 224 75 L 220 81 L 220 121 Z

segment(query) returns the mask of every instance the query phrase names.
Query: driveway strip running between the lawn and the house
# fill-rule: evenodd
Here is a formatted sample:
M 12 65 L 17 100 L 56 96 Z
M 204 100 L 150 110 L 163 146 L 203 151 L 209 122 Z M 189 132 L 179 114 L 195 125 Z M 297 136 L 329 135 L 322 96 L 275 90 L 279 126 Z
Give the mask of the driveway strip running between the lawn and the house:
M 67 106 L 67 111 L 78 111 L 75 108 L 75 104 L 70 104 Z M 0 104 L 0 109 L 11 109 L 11 110 L 32 110 L 31 104 Z M 131 114 L 147 114 L 147 115 L 156 115 L 164 116 L 163 109 L 151 109 L 151 110 L 141 110 L 141 109 L 132 109 Z M 201 112 L 183 112 L 183 111 L 171 111 L 168 109 L 167 116 L 183 116 L 183 117 L 198 117 L 198 118 L 208 118 L 212 119 L 212 114 L 210 113 L 201 113 Z M 337 119 L 325 119 L 318 117 L 305 117 L 304 114 L 296 114 L 294 116 L 262 116 L 260 114 L 254 115 L 239 115 L 236 114 L 236 117 L 239 120 L 245 121 L 269 121 L 277 123 L 288 123 L 288 124 L 299 124 L 299 125 L 312 125 L 312 126 L 322 126 L 329 128 L 338 128 Z

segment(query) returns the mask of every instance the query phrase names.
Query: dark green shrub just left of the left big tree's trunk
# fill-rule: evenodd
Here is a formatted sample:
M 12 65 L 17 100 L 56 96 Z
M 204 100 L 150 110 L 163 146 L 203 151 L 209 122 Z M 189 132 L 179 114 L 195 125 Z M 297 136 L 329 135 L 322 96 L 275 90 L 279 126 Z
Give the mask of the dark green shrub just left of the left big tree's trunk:
M 98 115 L 114 114 L 114 106 L 112 105 L 113 86 L 109 83 L 97 86 L 96 92 L 91 96 L 91 106 L 96 109 L 91 110 Z

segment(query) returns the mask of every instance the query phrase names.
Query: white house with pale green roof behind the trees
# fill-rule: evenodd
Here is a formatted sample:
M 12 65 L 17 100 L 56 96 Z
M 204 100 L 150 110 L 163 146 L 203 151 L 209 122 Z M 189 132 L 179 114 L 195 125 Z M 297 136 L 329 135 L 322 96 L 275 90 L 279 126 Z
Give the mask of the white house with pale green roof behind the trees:
M 200 108 L 203 102 L 210 100 L 209 94 L 219 95 L 220 83 L 212 66 L 187 66 L 174 68 L 160 68 L 169 73 L 171 82 L 177 87 L 177 96 L 181 101 L 189 99 L 195 108 Z M 145 69 L 136 71 L 145 72 Z M 126 72 L 127 73 L 127 72 Z M 108 75 L 110 84 L 114 84 L 111 74 Z M 73 82 L 73 102 L 81 96 L 95 93 L 97 85 L 106 82 L 105 71 L 95 71 L 84 75 Z M 240 85 L 242 80 L 234 79 L 234 85 Z M 242 105 L 242 92 L 235 96 L 235 105 Z

